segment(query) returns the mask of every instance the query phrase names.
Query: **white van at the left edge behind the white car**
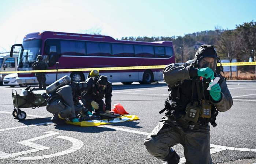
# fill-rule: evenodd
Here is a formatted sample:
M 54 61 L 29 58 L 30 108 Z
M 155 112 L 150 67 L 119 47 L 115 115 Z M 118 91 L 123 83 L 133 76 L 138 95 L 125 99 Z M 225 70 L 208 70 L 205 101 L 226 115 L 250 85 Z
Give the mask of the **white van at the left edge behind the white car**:
M 19 54 L 13 54 L 12 57 L 10 57 L 10 53 L 0 54 L 0 72 L 16 71 L 18 66 L 18 57 Z M 0 84 L 3 83 L 4 76 L 7 74 L 0 74 Z

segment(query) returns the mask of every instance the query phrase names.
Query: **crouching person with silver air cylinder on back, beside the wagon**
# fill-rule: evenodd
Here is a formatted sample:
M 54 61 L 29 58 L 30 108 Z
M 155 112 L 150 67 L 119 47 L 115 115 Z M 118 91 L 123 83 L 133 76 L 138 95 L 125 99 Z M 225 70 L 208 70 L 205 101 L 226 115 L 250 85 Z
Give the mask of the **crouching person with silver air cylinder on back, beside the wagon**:
M 79 102 L 79 97 L 86 89 L 85 82 L 71 82 L 69 76 L 64 76 L 49 85 L 46 89 L 49 94 L 46 109 L 53 114 L 51 121 L 55 124 L 63 124 L 68 118 L 72 122 L 79 122 L 76 118 L 78 114 L 91 114 Z

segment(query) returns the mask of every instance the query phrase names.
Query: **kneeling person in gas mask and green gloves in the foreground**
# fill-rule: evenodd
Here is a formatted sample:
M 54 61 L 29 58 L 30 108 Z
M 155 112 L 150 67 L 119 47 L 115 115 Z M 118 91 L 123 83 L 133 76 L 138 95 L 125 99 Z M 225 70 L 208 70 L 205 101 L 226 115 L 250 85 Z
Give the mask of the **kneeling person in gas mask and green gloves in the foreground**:
M 217 59 L 214 46 L 202 45 L 194 61 L 170 64 L 163 69 L 170 95 L 159 112 L 166 110 L 165 116 L 144 140 L 152 156 L 167 164 L 178 164 L 180 157 L 172 147 L 181 144 L 186 163 L 212 163 L 208 124 L 215 127 L 218 111 L 225 112 L 233 105 L 225 79 L 215 73 Z M 220 77 L 219 82 L 207 90 L 215 77 Z

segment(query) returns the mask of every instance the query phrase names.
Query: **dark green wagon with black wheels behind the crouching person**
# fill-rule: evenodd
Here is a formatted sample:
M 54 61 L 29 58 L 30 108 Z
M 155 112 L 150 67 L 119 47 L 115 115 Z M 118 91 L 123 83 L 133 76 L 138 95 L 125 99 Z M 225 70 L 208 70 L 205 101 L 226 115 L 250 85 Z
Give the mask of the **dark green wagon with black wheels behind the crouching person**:
M 42 97 L 42 93 L 45 90 L 34 90 L 30 89 L 30 85 L 26 89 L 22 89 L 21 93 L 18 94 L 17 90 L 12 89 L 12 101 L 13 101 L 13 112 L 12 116 L 18 120 L 25 120 L 27 117 L 26 112 L 22 111 L 21 108 L 39 108 L 46 106 L 47 101 Z

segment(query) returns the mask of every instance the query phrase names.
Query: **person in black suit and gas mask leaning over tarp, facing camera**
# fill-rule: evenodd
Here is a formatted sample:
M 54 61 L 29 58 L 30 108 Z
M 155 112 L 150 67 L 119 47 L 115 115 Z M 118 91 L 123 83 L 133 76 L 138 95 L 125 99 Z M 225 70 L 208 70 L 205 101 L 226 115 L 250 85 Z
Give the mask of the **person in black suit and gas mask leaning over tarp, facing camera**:
M 85 82 L 88 85 L 87 92 L 83 96 L 83 99 L 85 99 L 85 107 L 90 112 L 95 109 L 96 115 L 104 112 L 110 113 L 112 83 L 108 81 L 108 77 L 96 75 L 86 79 Z M 103 98 L 105 98 L 105 106 L 102 100 Z

